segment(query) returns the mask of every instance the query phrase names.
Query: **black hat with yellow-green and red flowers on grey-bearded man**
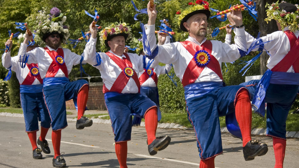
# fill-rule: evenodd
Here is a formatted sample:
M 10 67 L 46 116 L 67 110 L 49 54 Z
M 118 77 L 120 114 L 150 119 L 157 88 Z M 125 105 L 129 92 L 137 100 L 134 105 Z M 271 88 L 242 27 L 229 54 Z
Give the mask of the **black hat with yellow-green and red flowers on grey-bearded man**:
M 206 14 L 207 18 L 210 17 L 211 12 L 209 11 L 209 3 L 203 0 L 197 0 L 195 2 L 189 2 L 188 6 L 185 9 L 180 9 L 175 17 L 174 17 L 174 24 L 178 26 L 181 30 L 186 31 L 187 29 L 183 25 L 189 17 L 197 14 L 197 13 L 204 13 Z

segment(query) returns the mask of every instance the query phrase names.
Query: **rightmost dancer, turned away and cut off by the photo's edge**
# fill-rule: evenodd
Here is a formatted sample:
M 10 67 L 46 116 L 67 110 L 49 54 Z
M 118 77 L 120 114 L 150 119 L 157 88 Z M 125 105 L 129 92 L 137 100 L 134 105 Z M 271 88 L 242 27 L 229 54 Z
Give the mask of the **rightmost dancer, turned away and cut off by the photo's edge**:
M 242 83 L 248 86 L 253 97 L 252 107 L 264 116 L 267 103 L 267 136 L 273 138 L 275 168 L 283 167 L 286 150 L 286 120 L 289 110 L 296 99 L 299 85 L 299 8 L 291 3 L 273 3 L 268 5 L 265 21 L 276 20 L 278 30 L 258 40 L 271 54 L 269 68 L 261 80 Z M 288 19 L 285 17 L 289 15 Z M 246 33 L 247 47 L 254 39 Z M 235 39 L 236 44 L 240 40 Z M 260 86 L 260 87 L 258 87 Z

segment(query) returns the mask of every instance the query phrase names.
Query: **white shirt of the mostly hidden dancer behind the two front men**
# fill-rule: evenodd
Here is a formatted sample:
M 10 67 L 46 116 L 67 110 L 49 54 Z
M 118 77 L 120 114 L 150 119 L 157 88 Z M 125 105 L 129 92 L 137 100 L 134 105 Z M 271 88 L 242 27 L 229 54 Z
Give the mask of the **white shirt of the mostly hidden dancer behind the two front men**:
M 142 57 L 142 55 L 140 56 Z M 157 61 L 155 61 L 157 62 Z M 165 65 L 165 66 L 160 66 L 157 65 L 156 67 L 154 67 L 154 72 L 156 73 L 157 77 L 159 77 L 159 75 L 161 74 L 165 74 L 165 70 L 167 71 L 167 73 L 170 71 L 171 66 L 169 64 Z M 143 72 L 139 73 L 140 77 L 145 71 L 143 70 Z M 144 83 L 142 83 L 141 87 L 156 87 L 156 83 L 154 81 L 153 78 L 148 78 Z

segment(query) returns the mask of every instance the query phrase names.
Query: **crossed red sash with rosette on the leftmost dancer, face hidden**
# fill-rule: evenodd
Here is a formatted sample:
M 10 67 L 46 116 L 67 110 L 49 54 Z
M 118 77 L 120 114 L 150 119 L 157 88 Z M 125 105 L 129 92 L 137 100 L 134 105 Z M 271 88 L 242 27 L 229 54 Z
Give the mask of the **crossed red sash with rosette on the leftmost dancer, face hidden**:
M 26 65 L 29 69 L 29 73 L 27 74 L 26 78 L 21 83 L 21 85 L 32 85 L 32 83 L 34 82 L 35 79 L 37 79 L 38 81 L 40 81 L 41 84 L 43 84 L 43 79 L 40 77 L 40 74 L 38 73 L 39 69 L 38 69 L 37 64 L 26 63 Z M 35 74 L 37 74 L 37 75 L 35 75 Z

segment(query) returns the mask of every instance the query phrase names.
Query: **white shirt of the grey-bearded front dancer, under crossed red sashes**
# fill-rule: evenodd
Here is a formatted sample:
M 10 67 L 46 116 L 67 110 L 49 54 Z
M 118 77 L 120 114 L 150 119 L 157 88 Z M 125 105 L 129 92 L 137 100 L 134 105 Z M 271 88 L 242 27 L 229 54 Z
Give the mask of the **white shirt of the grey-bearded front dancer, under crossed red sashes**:
M 153 51 L 157 46 L 154 28 L 155 25 L 145 25 L 145 32 L 150 43 L 151 51 Z M 240 41 L 243 41 L 243 43 L 240 45 L 228 45 L 221 41 L 211 40 L 212 51 L 210 54 L 218 60 L 220 67 L 222 62 L 232 62 L 240 57 L 238 48 L 247 51 L 244 28 L 237 29 L 236 38 L 240 38 Z M 204 38 L 202 43 L 198 43 L 195 38 L 190 36 L 186 40 L 201 45 L 206 41 L 206 38 Z M 159 53 L 154 59 L 165 64 L 172 63 L 176 76 L 180 78 L 180 81 L 182 81 L 185 70 L 193 56 L 180 42 L 164 44 L 161 46 L 159 45 L 158 47 Z M 205 67 L 195 83 L 196 82 L 222 82 L 222 80 L 210 68 Z

